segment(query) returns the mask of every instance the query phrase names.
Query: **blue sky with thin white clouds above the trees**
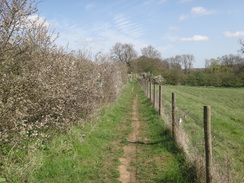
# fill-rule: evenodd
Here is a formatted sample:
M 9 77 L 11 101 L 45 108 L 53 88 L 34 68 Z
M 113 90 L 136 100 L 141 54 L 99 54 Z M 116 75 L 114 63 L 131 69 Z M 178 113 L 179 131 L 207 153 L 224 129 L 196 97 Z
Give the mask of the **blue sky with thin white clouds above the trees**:
M 237 54 L 244 40 L 244 0 L 42 0 L 38 16 L 56 32 L 57 44 L 110 53 L 130 43 L 138 55 L 152 45 L 162 58 L 193 54 L 205 59 Z

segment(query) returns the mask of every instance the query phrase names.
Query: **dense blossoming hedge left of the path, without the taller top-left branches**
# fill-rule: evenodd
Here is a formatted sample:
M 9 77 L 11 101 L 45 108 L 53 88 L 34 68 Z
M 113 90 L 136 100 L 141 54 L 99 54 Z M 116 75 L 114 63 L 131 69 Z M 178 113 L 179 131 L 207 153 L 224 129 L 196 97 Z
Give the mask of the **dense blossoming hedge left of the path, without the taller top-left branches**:
M 124 65 L 61 53 L 18 63 L 18 74 L 2 71 L 1 143 L 47 128 L 63 130 L 120 93 L 126 82 Z

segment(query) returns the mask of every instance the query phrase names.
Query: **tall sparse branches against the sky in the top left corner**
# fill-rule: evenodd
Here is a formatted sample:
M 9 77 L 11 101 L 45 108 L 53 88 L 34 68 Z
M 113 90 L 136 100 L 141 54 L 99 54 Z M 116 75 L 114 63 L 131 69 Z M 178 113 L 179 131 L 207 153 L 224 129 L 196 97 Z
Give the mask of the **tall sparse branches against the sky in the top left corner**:
M 37 12 L 34 0 L 0 1 L 0 63 L 27 50 L 28 17 Z

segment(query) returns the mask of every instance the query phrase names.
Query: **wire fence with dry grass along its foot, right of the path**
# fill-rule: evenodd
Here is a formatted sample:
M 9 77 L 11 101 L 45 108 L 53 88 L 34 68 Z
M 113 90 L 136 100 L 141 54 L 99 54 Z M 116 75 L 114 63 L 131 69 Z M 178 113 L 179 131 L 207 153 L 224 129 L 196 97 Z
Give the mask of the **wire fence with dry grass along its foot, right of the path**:
M 164 91 L 166 88 L 162 90 L 159 85 L 150 83 L 145 79 L 138 79 L 138 81 L 154 108 L 159 111 L 165 126 L 172 131 L 175 141 L 183 149 L 187 161 L 194 166 L 200 182 L 244 182 L 244 171 L 235 165 L 236 162 L 233 158 L 243 152 L 214 130 L 210 133 L 212 136 L 210 142 L 212 164 L 210 167 L 211 177 L 208 180 L 206 176 L 208 170 L 206 169 L 206 140 L 203 117 L 191 112 L 187 106 L 180 106 L 177 103 L 173 112 L 172 99 L 168 95 L 166 96 Z M 175 121 L 175 127 L 173 121 Z

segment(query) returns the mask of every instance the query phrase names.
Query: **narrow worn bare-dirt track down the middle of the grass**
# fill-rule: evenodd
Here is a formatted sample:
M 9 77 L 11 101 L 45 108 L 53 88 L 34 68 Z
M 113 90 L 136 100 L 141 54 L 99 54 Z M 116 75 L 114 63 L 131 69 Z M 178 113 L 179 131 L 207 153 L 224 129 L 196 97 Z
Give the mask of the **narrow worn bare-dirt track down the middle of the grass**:
M 133 90 L 132 90 L 133 91 Z M 137 145 L 140 122 L 138 119 L 138 95 L 133 101 L 133 112 L 132 112 L 132 132 L 127 138 L 128 145 L 123 147 L 124 155 L 119 158 L 121 165 L 119 166 L 120 177 L 119 181 L 122 183 L 137 182 L 136 181 L 136 169 L 131 166 L 131 162 L 136 162 Z

